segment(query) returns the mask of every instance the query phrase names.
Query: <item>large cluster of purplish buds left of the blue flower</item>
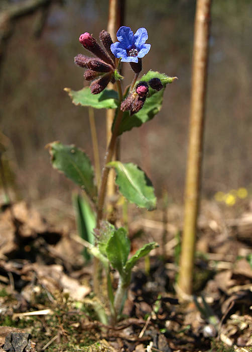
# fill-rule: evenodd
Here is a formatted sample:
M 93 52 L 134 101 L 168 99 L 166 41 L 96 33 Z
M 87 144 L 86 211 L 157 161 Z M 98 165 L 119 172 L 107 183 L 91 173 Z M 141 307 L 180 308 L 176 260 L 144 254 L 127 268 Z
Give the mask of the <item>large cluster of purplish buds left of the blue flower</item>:
M 78 54 L 74 58 L 76 65 L 86 68 L 84 78 L 88 81 L 95 79 L 90 84 L 92 94 L 99 94 L 105 89 L 109 81 L 114 82 L 115 57 L 110 50 L 112 39 L 105 30 L 100 32 L 99 38 L 106 52 L 97 43 L 96 39 L 86 32 L 80 35 L 79 41 L 85 49 L 94 54 L 94 57 Z

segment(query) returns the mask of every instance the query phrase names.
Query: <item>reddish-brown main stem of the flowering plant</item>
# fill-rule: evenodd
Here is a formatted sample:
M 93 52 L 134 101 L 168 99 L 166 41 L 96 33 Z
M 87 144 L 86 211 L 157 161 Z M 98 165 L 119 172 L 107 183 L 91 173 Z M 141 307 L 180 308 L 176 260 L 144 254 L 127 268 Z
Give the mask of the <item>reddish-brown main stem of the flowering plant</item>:
M 115 146 L 116 146 L 116 139 L 122 119 L 123 112 L 120 110 L 120 103 L 122 101 L 122 91 L 121 91 L 121 83 L 120 81 L 116 81 L 117 84 L 117 91 L 118 91 L 118 98 L 119 98 L 119 104 L 118 104 L 118 109 L 117 109 L 117 116 L 115 119 L 115 124 L 114 124 L 114 129 L 112 131 L 111 139 L 107 147 L 107 151 L 105 154 L 105 159 L 104 159 L 104 167 L 102 168 L 102 175 L 101 175 L 101 184 L 100 184 L 100 189 L 98 193 L 98 202 L 97 202 L 97 228 L 100 227 L 100 221 L 102 220 L 103 216 L 103 207 L 104 207 L 104 201 L 105 201 L 105 195 L 106 195 L 106 186 L 107 186 L 107 178 L 108 178 L 108 173 L 109 173 L 109 168 L 106 167 L 106 164 L 112 160 Z

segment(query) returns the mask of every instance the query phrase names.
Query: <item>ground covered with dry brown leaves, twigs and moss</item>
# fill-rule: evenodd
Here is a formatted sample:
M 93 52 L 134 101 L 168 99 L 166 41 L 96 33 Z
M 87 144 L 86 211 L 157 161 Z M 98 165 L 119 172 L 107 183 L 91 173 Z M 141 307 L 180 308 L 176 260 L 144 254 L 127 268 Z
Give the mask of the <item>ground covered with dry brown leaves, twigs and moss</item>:
M 95 315 L 92 263 L 76 240 L 71 207 L 2 206 L 0 351 L 252 351 L 252 209 L 247 200 L 204 201 L 201 209 L 194 296 L 183 300 L 176 286 L 182 207 L 129 209 L 132 253 L 153 240 L 160 247 L 134 269 L 112 327 Z

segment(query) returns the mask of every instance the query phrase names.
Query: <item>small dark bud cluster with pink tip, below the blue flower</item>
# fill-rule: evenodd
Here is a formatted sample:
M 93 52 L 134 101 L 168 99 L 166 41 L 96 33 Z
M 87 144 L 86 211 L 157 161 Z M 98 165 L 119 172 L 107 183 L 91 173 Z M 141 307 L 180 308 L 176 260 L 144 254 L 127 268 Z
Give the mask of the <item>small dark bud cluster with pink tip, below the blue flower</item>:
M 156 91 L 160 91 L 164 87 L 161 80 L 157 77 L 152 78 L 148 83 L 146 81 L 140 81 L 136 85 L 135 90 L 123 100 L 120 110 L 130 111 L 131 116 L 138 113 L 143 108 L 146 98 L 148 97 L 149 86 Z

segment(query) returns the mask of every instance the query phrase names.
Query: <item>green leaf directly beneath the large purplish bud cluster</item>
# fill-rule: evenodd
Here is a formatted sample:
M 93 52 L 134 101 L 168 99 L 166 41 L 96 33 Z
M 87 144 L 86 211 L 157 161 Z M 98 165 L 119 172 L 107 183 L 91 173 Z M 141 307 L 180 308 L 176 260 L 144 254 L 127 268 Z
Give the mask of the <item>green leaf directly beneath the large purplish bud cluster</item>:
M 68 93 L 75 105 L 91 106 L 95 109 L 115 109 L 118 106 L 118 94 L 111 89 L 104 89 L 100 94 L 92 94 L 89 87 L 80 91 L 65 88 L 64 91 Z

